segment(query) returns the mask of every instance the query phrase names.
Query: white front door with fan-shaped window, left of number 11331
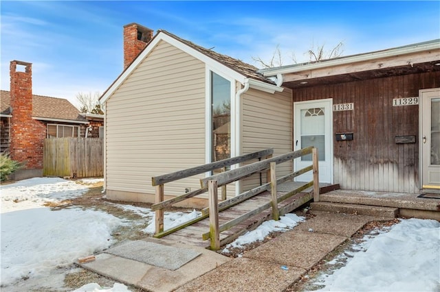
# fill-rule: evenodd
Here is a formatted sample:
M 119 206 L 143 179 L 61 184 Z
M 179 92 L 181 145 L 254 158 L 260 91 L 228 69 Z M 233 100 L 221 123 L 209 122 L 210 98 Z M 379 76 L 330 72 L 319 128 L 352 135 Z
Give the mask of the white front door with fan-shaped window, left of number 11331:
M 294 103 L 294 150 L 309 146 L 318 148 L 319 182 L 333 183 L 333 100 Z M 311 154 L 294 160 L 295 171 L 311 165 Z M 311 171 L 296 178 L 309 182 Z

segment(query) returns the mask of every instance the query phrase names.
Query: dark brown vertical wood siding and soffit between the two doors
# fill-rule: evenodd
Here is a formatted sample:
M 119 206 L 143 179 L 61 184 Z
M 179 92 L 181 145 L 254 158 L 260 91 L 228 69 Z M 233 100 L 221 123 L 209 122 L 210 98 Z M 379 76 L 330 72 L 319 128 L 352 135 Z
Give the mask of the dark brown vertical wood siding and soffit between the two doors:
M 333 133 L 353 133 L 353 141 L 333 142 L 334 182 L 341 188 L 417 193 L 419 106 L 393 106 L 393 99 L 439 86 L 437 71 L 299 88 L 293 98 L 354 104 L 333 112 Z M 395 143 L 395 136 L 416 136 L 416 142 Z

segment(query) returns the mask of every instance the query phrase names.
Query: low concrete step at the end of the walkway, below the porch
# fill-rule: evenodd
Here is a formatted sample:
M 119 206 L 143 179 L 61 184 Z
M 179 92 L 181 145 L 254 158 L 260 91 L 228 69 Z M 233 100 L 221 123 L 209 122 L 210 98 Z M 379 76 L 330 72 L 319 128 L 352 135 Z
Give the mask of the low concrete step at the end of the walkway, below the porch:
M 358 204 L 341 204 L 331 202 L 314 202 L 310 204 L 311 210 L 338 212 L 345 214 L 369 215 L 375 217 L 395 218 L 399 214 L 399 208 L 368 206 Z

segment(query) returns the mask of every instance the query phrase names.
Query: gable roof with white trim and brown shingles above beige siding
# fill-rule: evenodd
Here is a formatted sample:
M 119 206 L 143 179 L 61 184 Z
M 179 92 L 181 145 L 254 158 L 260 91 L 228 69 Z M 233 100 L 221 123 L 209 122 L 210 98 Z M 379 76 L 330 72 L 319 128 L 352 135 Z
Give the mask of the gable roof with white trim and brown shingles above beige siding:
M 182 51 L 188 53 L 190 56 L 201 60 L 205 64 L 208 64 L 213 71 L 219 71 L 228 75 L 234 80 L 237 80 L 241 84 L 248 82 L 250 87 L 257 88 L 259 90 L 264 90 L 270 93 L 274 91 L 283 91 L 283 88 L 276 86 L 276 83 L 270 78 L 264 77 L 262 73 L 259 73 L 259 69 L 256 66 L 247 64 L 241 60 L 231 58 L 226 55 L 222 55 L 210 49 L 203 48 L 195 43 L 183 38 L 179 38 L 166 30 L 159 29 L 157 34 L 151 39 L 146 47 L 140 52 L 140 54 L 126 67 L 124 71 L 114 80 L 114 82 L 104 91 L 100 97 L 100 102 L 104 103 L 113 92 L 126 80 L 127 77 L 133 72 L 136 67 L 148 56 L 148 54 L 155 48 L 160 40 L 168 42 L 170 45 L 181 49 Z M 219 73 L 217 72 L 217 73 Z

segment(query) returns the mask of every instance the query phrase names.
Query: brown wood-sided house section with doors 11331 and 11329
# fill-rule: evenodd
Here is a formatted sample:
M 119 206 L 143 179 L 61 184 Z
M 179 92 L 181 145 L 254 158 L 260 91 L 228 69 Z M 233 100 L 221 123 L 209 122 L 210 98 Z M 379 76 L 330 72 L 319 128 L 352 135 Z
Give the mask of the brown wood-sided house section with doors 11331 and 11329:
M 260 72 L 292 89 L 294 149 L 318 145 L 320 182 L 440 188 L 439 39 Z

